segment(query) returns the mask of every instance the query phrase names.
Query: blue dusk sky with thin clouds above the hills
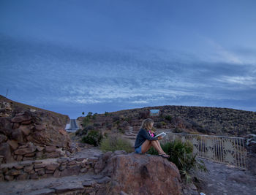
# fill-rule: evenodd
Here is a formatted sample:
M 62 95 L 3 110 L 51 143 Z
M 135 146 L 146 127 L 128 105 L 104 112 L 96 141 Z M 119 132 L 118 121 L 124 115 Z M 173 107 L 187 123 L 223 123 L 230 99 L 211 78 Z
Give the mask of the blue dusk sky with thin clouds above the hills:
M 0 94 L 70 118 L 256 111 L 255 10 L 254 0 L 1 0 Z

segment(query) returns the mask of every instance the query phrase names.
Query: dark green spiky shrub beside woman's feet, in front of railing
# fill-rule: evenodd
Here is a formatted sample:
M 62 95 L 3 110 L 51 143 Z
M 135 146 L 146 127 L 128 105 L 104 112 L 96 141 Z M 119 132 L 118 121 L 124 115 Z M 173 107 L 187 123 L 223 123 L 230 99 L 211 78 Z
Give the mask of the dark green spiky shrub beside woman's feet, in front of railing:
M 184 177 L 187 181 L 191 180 L 189 171 L 191 169 L 201 169 L 207 171 L 206 167 L 203 164 L 203 161 L 196 160 L 196 155 L 193 154 L 193 146 L 189 142 L 184 143 L 180 140 L 175 140 L 174 142 L 167 142 L 162 145 L 162 150 L 165 151 L 170 158 L 169 161 L 172 161 L 178 167 L 178 170 L 181 174 L 181 177 Z M 157 150 L 150 148 L 148 153 L 157 155 Z

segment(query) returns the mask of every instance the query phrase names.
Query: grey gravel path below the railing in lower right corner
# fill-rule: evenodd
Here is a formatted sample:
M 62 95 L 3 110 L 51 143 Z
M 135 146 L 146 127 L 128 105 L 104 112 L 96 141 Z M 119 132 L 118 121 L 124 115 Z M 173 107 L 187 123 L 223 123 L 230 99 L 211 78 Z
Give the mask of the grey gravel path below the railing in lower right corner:
M 225 164 L 203 160 L 208 174 L 197 172 L 198 192 L 206 195 L 256 195 L 256 175 Z

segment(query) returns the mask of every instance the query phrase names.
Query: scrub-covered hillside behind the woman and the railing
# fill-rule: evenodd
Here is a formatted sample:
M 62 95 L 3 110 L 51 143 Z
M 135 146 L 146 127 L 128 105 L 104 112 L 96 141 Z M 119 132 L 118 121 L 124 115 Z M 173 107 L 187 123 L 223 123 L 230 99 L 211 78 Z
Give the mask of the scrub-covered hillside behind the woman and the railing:
M 149 110 L 160 110 L 150 116 Z M 192 134 L 244 136 L 256 134 L 256 112 L 217 107 L 159 106 L 94 114 L 81 129 L 98 129 L 103 133 L 118 131 L 135 137 L 144 118 L 154 119 L 156 129 Z M 78 118 L 80 124 L 85 117 Z M 87 132 L 87 131 L 86 131 Z M 81 132 L 80 132 L 81 134 Z

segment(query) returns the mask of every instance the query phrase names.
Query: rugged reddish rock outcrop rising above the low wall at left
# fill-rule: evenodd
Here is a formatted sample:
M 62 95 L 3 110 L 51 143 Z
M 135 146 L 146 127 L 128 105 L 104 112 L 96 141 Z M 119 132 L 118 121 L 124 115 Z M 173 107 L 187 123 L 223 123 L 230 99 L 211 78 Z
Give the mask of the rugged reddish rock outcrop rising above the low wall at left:
M 0 163 L 66 156 L 69 117 L 0 99 Z

